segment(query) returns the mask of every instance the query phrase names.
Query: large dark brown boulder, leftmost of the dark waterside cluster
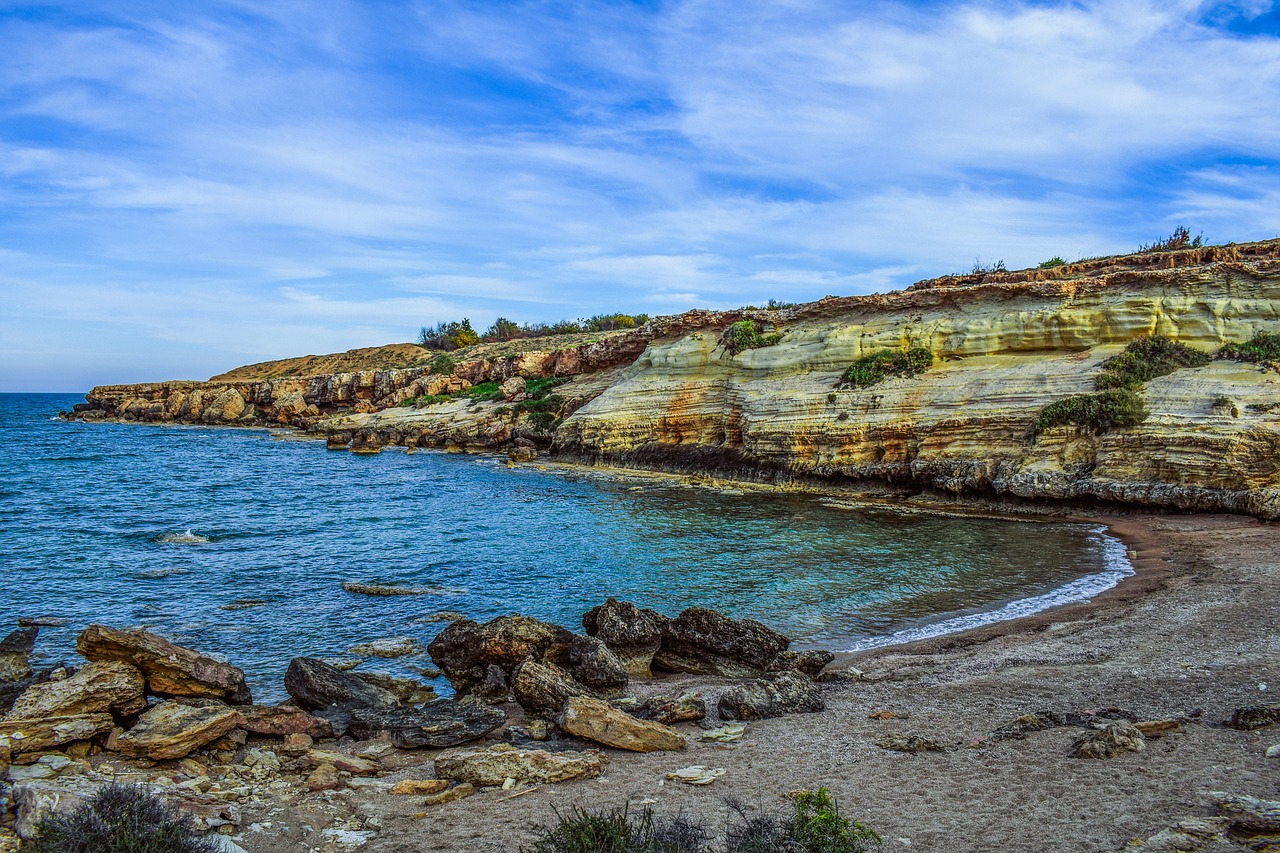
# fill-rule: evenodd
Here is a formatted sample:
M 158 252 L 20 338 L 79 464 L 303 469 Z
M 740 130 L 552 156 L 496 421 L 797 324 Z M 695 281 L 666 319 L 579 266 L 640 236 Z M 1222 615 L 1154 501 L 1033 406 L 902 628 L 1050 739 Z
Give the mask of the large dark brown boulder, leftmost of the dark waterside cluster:
M 431 660 L 462 695 L 484 683 L 489 666 L 508 676 L 526 660 L 567 663 L 573 634 L 529 616 L 499 616 L 477 624 L 460 619 L 426 647 Z

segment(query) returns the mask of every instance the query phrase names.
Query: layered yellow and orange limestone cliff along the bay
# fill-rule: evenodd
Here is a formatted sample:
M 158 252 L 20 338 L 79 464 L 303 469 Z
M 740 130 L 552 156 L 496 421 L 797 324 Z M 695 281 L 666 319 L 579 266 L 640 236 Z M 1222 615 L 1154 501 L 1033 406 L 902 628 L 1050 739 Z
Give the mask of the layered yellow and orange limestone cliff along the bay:
M 724 329 L 742 319 L 777 342 L 727 350 Z M 1143 392 L 1149 415 L 1135 426 L 1101 435 L 1056 426 L 1033 437 L 1030 429 L 1047 403 L 1089 392 L 1100 364 L 1134 338 L 1164 334 L 1215 352 L 1261 330 L 1280 330 L 1277 241 L 950 277 L 781 311 L 692 311 L 596 345 L 603 350 L 594 355 L 461 365 L 447 378 L 316 378 L 289 386 L 297 397 L 282 397 L 274 383 L 234 394 L 229 386 L 124 387 L 95 389 L 90 406 L 182 420 L 186 402 L 174 401 L 201 393 L 211 397 L 204 411 L 214 412 L 201 420 L 227 423 L 264 401 L 288 400 L 316 409 L 296 423 L 330 435 L 330 446 L 541 444 L 590 462 L 1275 519 L 1280 406 L 1268 407 L 1280 402 L 1280 375 L 1271 366 L 1215 360 L 1157 378 Z M 837 388 L 855 359 L 909 346 L 928 348 L 933 368 Z M 397 394 L 436 393 L 431 382 L 513 375 L 570 378 L 557 388 L 563 420 L 535 426 L 507 400 L 392 409 Z M 319 418 L 360 401 L 379 411 Z

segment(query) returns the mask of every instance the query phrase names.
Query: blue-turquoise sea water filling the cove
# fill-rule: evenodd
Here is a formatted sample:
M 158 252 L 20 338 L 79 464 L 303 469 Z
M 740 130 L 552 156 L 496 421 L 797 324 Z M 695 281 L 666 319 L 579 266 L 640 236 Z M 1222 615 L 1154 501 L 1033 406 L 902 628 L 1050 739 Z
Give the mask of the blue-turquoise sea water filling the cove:
M 1088 525 L 54 418 L 78 401 L 0 394 L 0 625 L 67 620 L 41 630 L 38 653 L 69 662 L 88 622 L 150 625 L 242 666 L 264 699 L 283 698 L 291 657 L 393 635 L 425 644 L 442 624 L 415 620 L 442 610 L 580 629 L 616 596 L 671 615 L 714 607 L 847 649 L 1085 597 L 1128 571 L 1123 548 Z M 431 594 L 349 594 L 347 580 Z M 266 603 L 221 610 L 238 599 Z

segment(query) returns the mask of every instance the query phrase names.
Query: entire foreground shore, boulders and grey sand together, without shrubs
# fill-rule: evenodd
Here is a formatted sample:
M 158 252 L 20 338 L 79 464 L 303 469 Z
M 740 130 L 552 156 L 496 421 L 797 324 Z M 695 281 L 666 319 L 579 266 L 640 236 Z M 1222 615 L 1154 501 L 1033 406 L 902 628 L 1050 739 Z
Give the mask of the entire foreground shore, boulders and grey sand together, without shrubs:
M 1280 532 L 1115 529 L 1138 576 L 1093 605 L 837 661 L 700 608 L 457 619 L 426 647 L 453 699 L 296 658 L 291 699 L 256 706 L 234 666 L 105 626 L 86 662 L 29 672 L 22 629 L 0 644 L 6 820 L 29 834 L 116 779 L 251 853 L 516 850 L 575 803 L 714 827 L 726 797 L 826 786 L 887 849 L 1275 849 Z

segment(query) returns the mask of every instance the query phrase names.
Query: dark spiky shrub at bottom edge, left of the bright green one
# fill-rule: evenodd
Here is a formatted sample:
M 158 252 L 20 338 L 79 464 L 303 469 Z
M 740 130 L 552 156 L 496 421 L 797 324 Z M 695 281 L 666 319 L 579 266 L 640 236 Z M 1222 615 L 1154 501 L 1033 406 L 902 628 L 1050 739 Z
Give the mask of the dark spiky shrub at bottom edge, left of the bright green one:
M 589 811 L 575 806 L 568 815 L 556 812 L 556 822 L 538 826 L 538 839 L 521 853 L 700 853 L 707 830 L 686 816 L 657 818 L 644 808 Z

